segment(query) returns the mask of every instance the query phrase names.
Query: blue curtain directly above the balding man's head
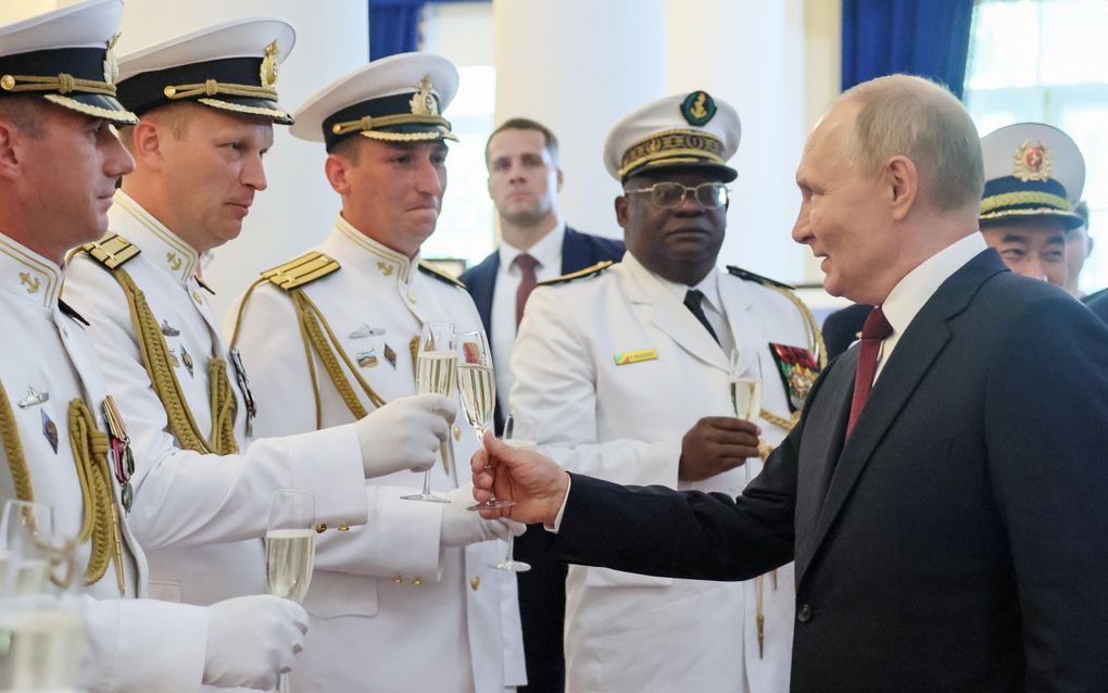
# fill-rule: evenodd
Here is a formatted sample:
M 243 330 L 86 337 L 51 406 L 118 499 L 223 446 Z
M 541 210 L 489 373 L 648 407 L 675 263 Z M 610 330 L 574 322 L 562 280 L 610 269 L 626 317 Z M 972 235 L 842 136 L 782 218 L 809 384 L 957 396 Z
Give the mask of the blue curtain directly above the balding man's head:
M 906 72 L 961 99 L 972 19 L 973 0 L 842 0 L 843 91 Z

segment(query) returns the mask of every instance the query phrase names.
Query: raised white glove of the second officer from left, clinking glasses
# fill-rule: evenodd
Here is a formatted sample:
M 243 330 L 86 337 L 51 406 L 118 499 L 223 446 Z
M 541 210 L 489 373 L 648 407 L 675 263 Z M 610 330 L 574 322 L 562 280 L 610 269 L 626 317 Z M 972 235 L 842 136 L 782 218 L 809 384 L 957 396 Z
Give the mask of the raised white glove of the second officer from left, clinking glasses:
M 413 395 L 390 401 L 355 422 L 366 478 L 430 469 L 456 415 L 453 400 L 441 395 Z

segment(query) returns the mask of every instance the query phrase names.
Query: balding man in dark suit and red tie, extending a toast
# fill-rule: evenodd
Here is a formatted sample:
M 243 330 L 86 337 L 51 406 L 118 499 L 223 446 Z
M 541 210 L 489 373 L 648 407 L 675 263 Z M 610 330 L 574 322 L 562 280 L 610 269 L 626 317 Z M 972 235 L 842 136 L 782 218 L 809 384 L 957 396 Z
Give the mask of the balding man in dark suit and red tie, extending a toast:
M 793 238 L 880 310 L 742 496 L 571 478 L 491 438 L 474 495 L 573 562 L 746 579 L 794 558 L 793 691 L 1108 690 L 1108 328 L 986 248 L 976 140 L 905 75 L 817 125 Z

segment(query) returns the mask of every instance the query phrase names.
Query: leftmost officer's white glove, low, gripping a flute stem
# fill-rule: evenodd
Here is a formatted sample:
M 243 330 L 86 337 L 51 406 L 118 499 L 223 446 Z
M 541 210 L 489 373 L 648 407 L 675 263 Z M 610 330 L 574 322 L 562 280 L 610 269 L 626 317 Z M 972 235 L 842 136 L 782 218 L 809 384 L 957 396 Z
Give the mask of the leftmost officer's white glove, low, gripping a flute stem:
M 254 594 L 212 604 L 207 612 L 208 685 L 273 690 L 304 650 L 308 613 L 294 601 Z

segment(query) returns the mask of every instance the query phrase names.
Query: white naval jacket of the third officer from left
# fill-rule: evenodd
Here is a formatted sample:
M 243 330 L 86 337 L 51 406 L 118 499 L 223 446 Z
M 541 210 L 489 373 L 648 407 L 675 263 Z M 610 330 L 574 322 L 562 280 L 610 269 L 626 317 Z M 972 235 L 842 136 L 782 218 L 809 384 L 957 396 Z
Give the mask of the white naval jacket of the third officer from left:
M 362 364 L 355 367 L 386 401 L 416 393 L 410 343 L 424 322 L 481 329 L 464 289 L 418 269 L 341 216 L 312 249 L 341 268 L 299 291 L 318 306 L 350 361 Z M 271 284 L 259 286 L 243 312 L 236 346 L 263 402 L 256 432 L 315 430 L 316 404 L 291 297 Z M 322 427 L 351 421 L 322 364 L 312 358 Z M 463 417 L 459 406 L 456 475 L 441 463 L 433 468 L 431 487 L 439 492 L 470 478 L 478 442 Z M 347 532 L 352 541 L 343 543 L 346 551 L 317 557 L 304 604 L 311 630 L 293 673 L 296 690 L 493 693 L 524 682 L 515 578 L 491 568 L 505 544 L 440 548 L 442 506 L 400 498 L 421 483 L 422 473 L 410 471 L 366 482 L 368 524 Z

